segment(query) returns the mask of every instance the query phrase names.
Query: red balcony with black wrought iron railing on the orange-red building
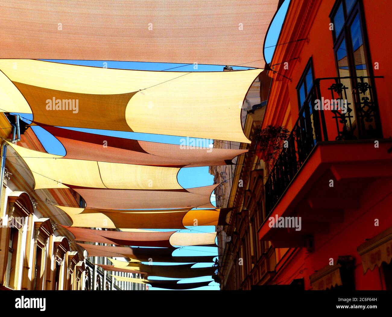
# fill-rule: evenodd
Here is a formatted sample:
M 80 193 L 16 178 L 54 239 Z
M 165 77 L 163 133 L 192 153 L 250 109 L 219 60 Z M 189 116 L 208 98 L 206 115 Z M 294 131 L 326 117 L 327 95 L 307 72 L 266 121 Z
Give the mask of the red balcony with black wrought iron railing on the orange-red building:
M 369 178 L 392 177 L 388 153 L 392 144 L 382 139 L 373 89 L 377 78 L 382 77 L 318 78 L 299 110 L 286 147 L 265 182 L 266 221 L 272 214 L 304 216 L 301 232 L 289 235 L 292 246 L 303 245 L 306 235 L 315 230 L 328 232 L 331 222 L 342 221 L 342 210 L 357 205 L 356 195 Z M 335 181 L 332 189 L 328 188 L 331 179 Z M 328 208 L 329 214 L 323 214 Z M 290 247 L 287 236 L 276 235 L 277 229 L 265 222 L 260 239 L 272 241 L 274 236 L 278 247 Z

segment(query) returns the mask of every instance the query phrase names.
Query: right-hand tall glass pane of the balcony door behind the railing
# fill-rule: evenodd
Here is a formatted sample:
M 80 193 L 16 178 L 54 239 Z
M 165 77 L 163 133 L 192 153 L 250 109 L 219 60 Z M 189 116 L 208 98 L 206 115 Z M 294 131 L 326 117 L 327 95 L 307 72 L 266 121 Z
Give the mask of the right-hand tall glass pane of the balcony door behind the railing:
M 354 52 L 354 63 L 356 76 L 368 76 L 365 58 L 365 49 L 363 47 L 361 23 L 358 14 L 350 27 L 352 50 Z

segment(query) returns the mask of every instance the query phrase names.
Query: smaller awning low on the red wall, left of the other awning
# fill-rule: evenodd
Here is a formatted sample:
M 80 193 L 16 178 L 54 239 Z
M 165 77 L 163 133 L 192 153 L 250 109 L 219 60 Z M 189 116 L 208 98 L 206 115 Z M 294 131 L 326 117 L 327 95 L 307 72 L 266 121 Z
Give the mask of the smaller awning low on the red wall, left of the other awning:
M 340 276 L 341 265 L 327 265 L 316 273 L 310 275 L 310 283 L 314 290 L 331 289 L 334 286 L 341 286 L 342 280 Z

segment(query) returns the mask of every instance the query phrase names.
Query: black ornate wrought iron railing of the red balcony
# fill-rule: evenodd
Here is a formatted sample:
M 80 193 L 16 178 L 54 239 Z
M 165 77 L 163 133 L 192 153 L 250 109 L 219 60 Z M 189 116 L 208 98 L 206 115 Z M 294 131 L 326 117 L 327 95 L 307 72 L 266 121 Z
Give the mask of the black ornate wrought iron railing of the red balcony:
M 381 76 L 318 78 L 314 81 L 265 182 L 267 215 L 319 141 L 382 138 L 372 85 L 374 78 Z

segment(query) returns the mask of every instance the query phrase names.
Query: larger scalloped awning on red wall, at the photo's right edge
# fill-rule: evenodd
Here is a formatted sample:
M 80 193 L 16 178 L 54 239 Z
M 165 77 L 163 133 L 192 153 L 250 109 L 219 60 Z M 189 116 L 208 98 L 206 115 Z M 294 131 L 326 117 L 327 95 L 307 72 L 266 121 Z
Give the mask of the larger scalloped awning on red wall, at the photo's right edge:
M 358 246 L 357 251 L 361 255 L 363 274 L 368 269 L 374 270 L 376 265 L 381 266 L 383 262 L 389 264 L 392 259 L 392 227 L 374 238 Z

